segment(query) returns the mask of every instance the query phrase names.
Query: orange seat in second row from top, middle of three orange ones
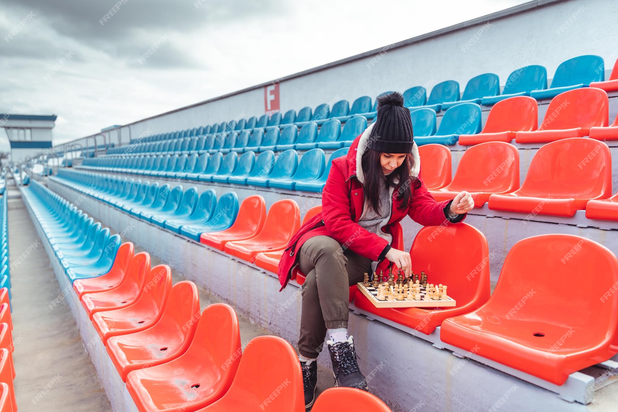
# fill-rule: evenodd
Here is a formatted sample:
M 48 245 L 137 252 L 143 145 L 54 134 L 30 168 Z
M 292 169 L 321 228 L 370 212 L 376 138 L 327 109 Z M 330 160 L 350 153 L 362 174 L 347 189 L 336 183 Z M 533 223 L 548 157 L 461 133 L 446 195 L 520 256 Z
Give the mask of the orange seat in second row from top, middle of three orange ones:
M 600 88 L 583 87 L 560 93 L 549 103 L 543 123 L 536 131 L 517 132 L 517 143 L 546 143 L 569 137 L 584 137 L 590 128 L 607 126 L 607 93 Z

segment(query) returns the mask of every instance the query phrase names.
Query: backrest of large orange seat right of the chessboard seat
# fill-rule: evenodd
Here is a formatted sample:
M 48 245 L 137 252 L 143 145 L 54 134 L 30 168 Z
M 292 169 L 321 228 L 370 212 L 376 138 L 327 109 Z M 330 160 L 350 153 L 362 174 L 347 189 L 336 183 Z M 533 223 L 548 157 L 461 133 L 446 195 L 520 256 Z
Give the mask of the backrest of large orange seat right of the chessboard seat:
M 560 281 L 556 281 L 558 273 Z M 586 293 L 574 293 L 572 285 L 577 285 L 582 278 L 586 279 Z M 541 234 L 523 239 L 510 249 L 486 307 L 494 308 L 499 317 L 506 315 L 507 319 L 509 311 L 517 307 L 517 319 L 569 325 L 586 331 L 575 338 L 581 345 L 598 346 L 601 342 L 616 345 L 618 294 L 612 294 L 611 290 L 617 281 L 618 261 L 606 247 L 582 236 Z M 528 299 L 525 305 L 515 306 L 531 290 L 535 292 L 534 298 Z M 527 332 L 525 338 L 533 339 L 533 334 L 539 333 L 541 338 L 548 331 Z M 554 339 L 540 341 L 538 345 L 549 349 L 554 342 Z M 570 345 L 577 346 L 575 341 Z

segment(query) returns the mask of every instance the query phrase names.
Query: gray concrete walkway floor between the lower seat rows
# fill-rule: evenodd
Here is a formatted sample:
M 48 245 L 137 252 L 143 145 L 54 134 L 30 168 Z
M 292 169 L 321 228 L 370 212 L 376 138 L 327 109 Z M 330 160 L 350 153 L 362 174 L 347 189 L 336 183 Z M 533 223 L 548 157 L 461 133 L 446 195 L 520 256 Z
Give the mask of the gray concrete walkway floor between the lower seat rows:
M 12 181 L 7 183 L 11 184 Z M 9 247 L 11 261 L 15 262 L 20 260 L 20 255 L 28 247 L 37 244 L 38 234 L 17 188 L 13 184 L 7 186 L 7 189 Z M 93 218 L 96 221 L 96 216 Z M 40 241 L 38 246 L 33 247 L 30 254 L 11 270 L 14 361 L 17 371 L 15 393 L 19 410 L 110 411 L 111 406 L 83 348 L 69 306 L 62 300 L 53 309 L 49 308 L 61 290 Z M 145 250 L 135 245 L 136 253 L 142 251 Z M 153 266 L 163 263 L 151 255 Z M 172 270 L 172 280 L 176 283 L 184 278 Z M 198 291 L 202 308 L 221 302 L 221 299 L 206 293 L 200 286 Z M 239 324 L 243 348 L 252 338 L 271 334 L 242 315 L 239 315 Z M 333 385 L 332 371 L 319 367 L 316 396 Z

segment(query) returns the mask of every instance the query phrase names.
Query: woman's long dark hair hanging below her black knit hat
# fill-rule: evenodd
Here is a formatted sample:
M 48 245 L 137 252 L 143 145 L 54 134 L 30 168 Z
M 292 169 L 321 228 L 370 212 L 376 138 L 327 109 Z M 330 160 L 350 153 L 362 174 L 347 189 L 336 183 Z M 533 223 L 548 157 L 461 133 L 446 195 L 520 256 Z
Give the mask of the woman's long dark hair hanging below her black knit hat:
M 380 155 L 381 152 L 368 148 L 365 153 L 363 153 L 363 158 L 361 160 L 361 166 L 365 176 L 363 186 L 365 187 L 365 196 L 369 202 L 369 206 L 378 213 L 382 210 L 379 197 L 379 185 L 381 181 L 386 179 L 386 187 L 396 187 L 398 192 L 397 200 L 401 200 L 402 205 L 408 207 L 412 199 L 412 187 L 418 189 L 418 187 L 421 186 L 420 179 L 410 176 L 410 171 L 414 168 L 412 153 L 408 153 L 401 165 L 389 175 L 385 175 L 382 171 Z M 398 184 L 394 183 L 395 178 L 399 178 Z

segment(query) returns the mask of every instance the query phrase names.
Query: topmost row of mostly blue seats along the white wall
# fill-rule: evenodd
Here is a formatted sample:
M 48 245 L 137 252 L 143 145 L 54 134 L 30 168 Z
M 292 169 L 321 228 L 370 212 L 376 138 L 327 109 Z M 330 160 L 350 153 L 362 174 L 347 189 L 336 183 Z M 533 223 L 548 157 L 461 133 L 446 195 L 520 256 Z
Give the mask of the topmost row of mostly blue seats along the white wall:
M 504 85 L 502 94 L 499 93 L 499 78 L 496 74 L 486 73 L 473 77 L 464 88 L 464 93 L 460 96 L 459 82 L 446 80 L 436 84 L 429 98 L 426 98 L 425 87 L 415 86 L 408 88 L 404 92 L 405 106 L 409 108 L 431 108 L 434 111 L 447 110 L 459 103 L 476 103 L 491 106 L 498 101 L 516 96 L 531 96 L 535 100 L 554 98 L 562 92 L 582 87 L 596 87 L 603 90 L 618 90 L 618 60 L 614 64 L 614 69 L 610 79 L 604 81 L 604 61 L 600 56 L 586 55 L 578 56 L 562 62 L 556 69 L 552 79 L 551 88 L 547 88 L 547 70 L 544 66 L 525 66 L 513 71 Z M 390 93 L 384 92 L 381 95 Z M 332 106 L 332 110 L 326 103 L 316 107 L 312 111 L 310 107 L 305 107 L 298 111 L 294 109 L 285 114 L 274 113 L 272 116 L 264 114 L 257 119 L 255 116 L 249 119 L 232 120 L 221 122 L 212 126 L 196 127 L 185 131 L 169 132 L 158 134 L 142 139 L 134 139 L 133 142 L 157 142 L 159 140 L 180 139 L 183 137 L 193 137 L 208 134 L 217 134 L 232 131 L 253 131 L 267 127 L 286 127 L 292 124 L 302 127 L 307 122 L 314 121 L 321 125 L 328 119 L 337 119 L 346 122 L 353 116 L 364 116 L 368 119 L 375 118 L 377 98 L 371 105 L 371 98 L 363 96 L 353 101 L 352 107 L 347 100 L 337 101 Z M 114 148 L 108 153 L 122 153 L 122 148 Z

